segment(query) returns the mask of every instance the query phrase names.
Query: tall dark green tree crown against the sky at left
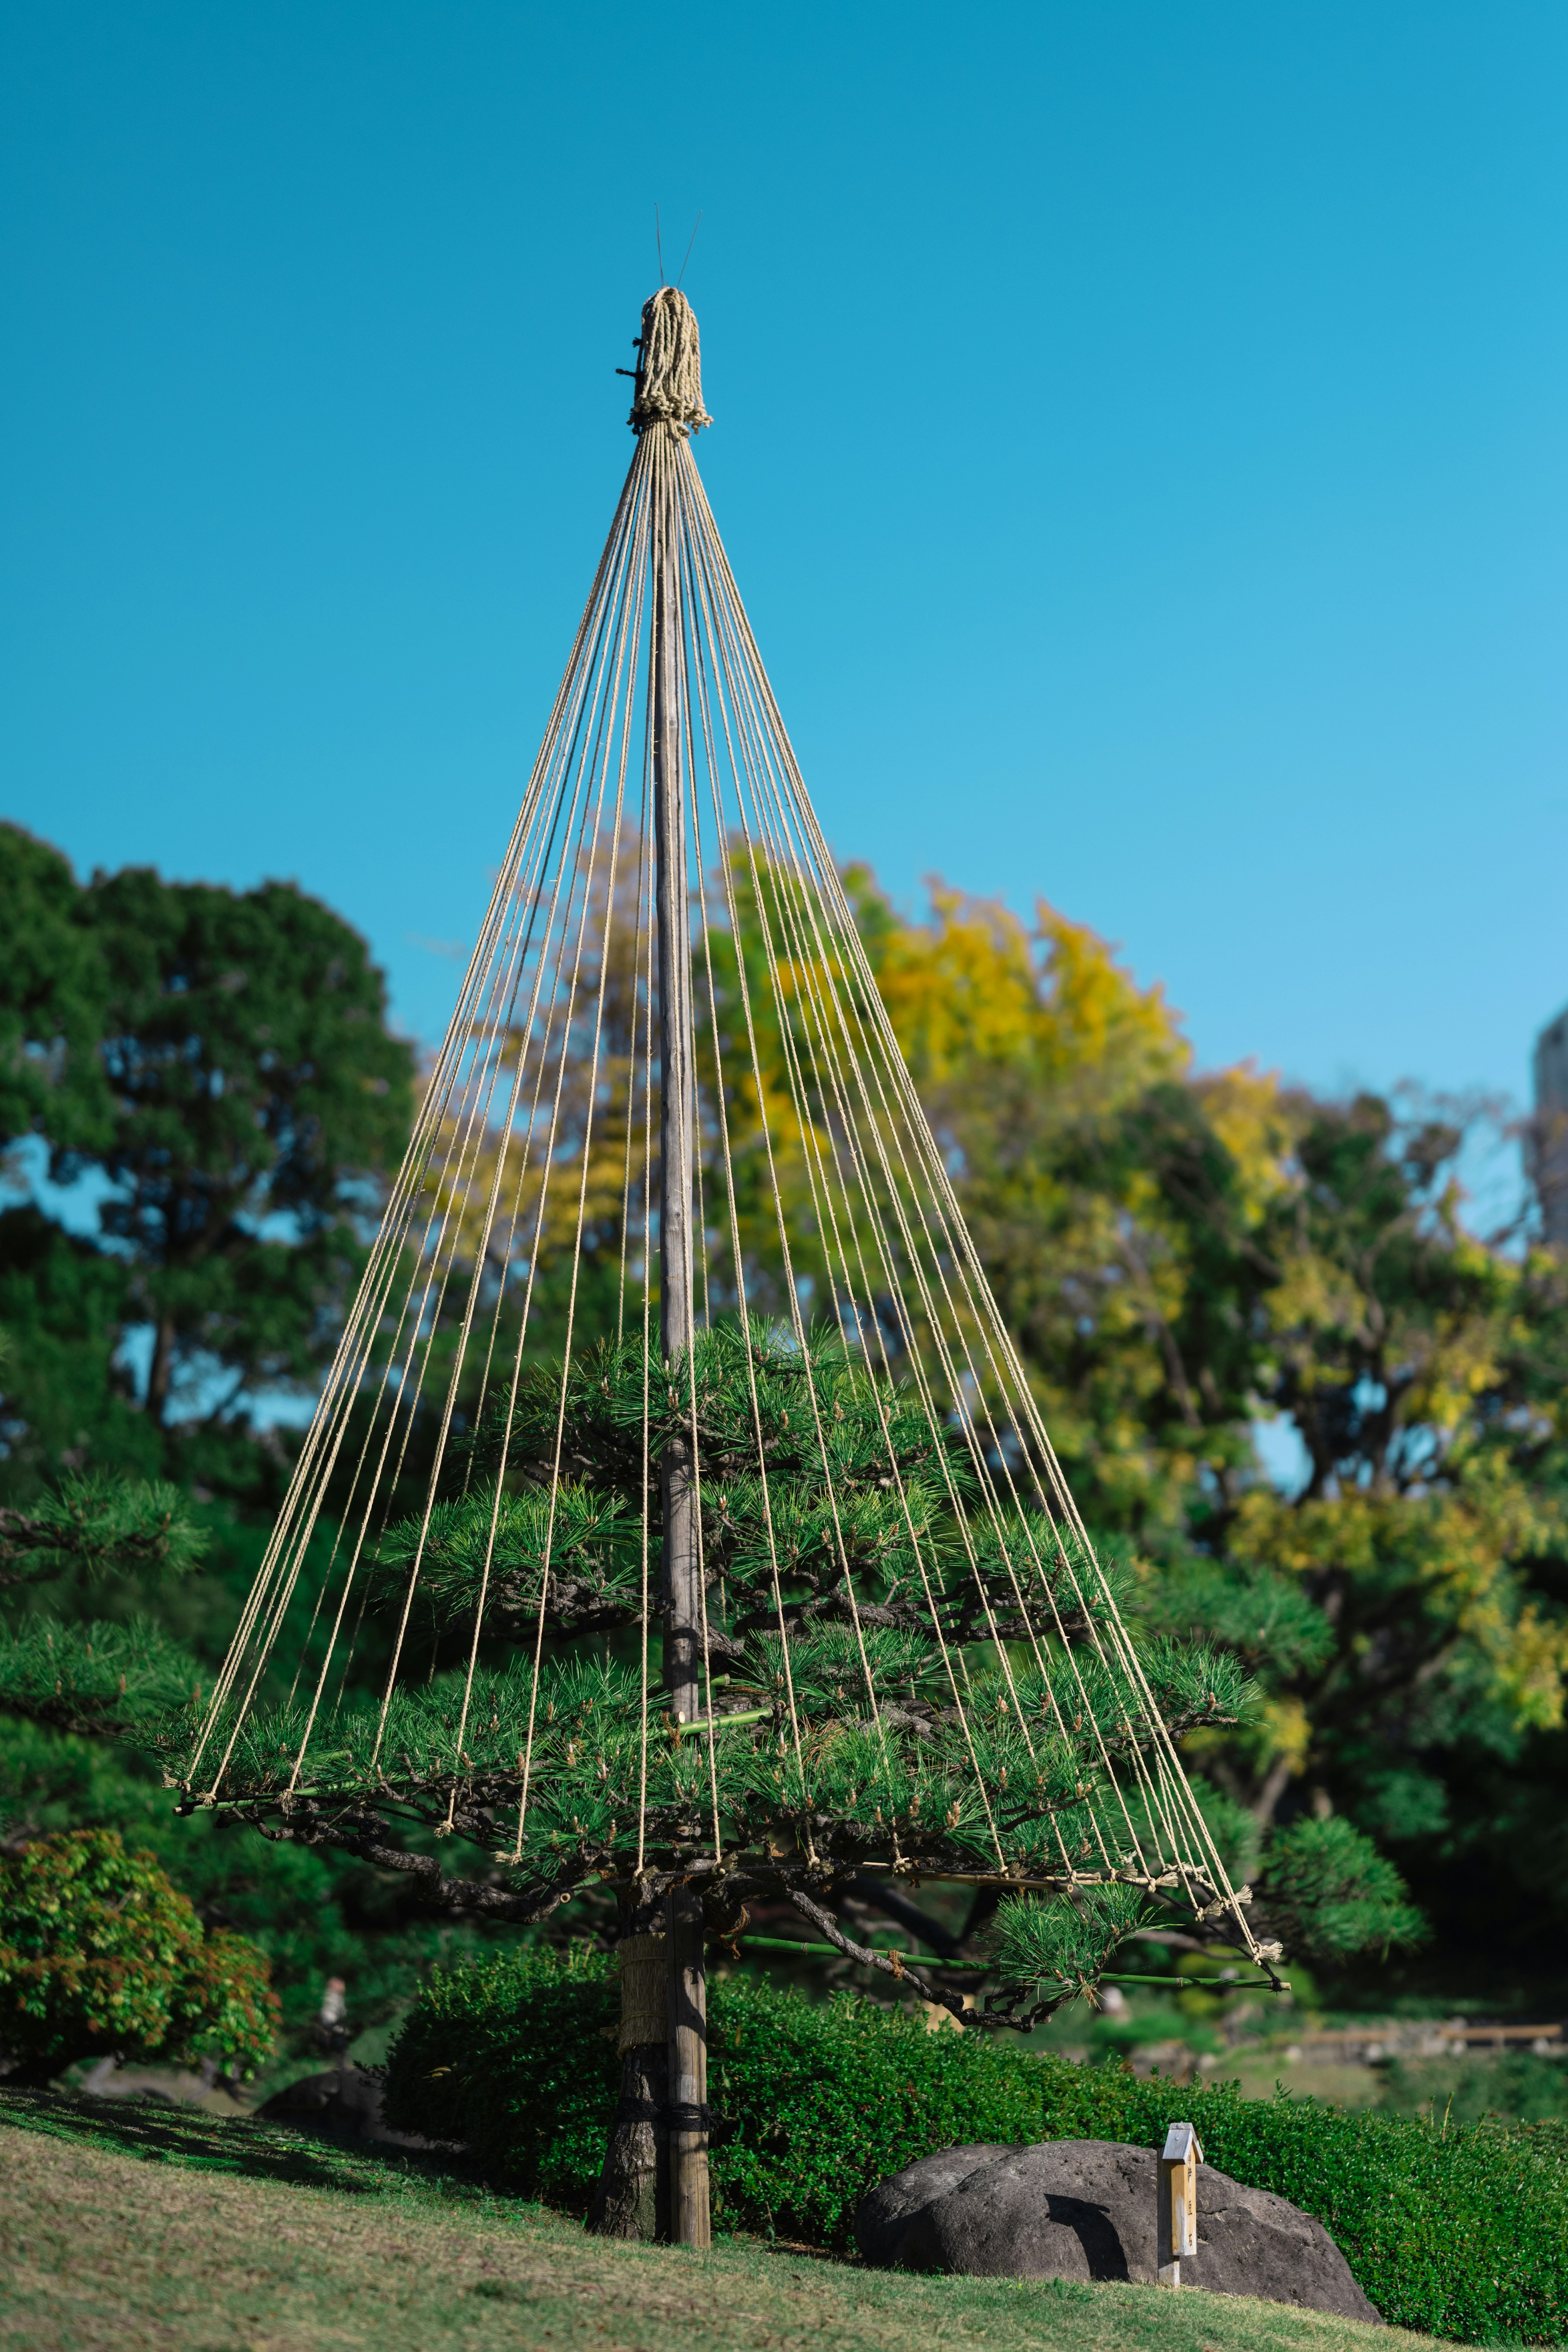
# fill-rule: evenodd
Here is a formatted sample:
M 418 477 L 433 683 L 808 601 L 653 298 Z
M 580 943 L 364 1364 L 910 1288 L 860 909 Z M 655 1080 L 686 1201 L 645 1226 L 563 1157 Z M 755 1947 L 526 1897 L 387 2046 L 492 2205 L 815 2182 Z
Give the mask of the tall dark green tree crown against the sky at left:
M 249 1414 L 308 1395 L 407 1138 L 411 1056 L 381 974 L 282 882 L 127 868 L 78 889 L 7 828 L 5 889 L 33 946 L 0 1004 L 0 1105 L 82 1202 L 75 1230 L 33 1204 L 0 1216 L 7 1482 L 94 1461 L 270 1489 Z

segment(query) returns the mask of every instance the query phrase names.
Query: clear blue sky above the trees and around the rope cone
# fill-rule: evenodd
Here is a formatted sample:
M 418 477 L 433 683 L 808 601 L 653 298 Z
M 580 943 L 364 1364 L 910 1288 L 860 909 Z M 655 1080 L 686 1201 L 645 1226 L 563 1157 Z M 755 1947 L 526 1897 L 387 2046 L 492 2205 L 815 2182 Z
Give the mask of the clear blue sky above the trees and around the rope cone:
M 1568 9 L 12 0 L 0 807 L 442 1028 L 686 273 L 830 840 L 1204 1063 L 1568 1000 Z

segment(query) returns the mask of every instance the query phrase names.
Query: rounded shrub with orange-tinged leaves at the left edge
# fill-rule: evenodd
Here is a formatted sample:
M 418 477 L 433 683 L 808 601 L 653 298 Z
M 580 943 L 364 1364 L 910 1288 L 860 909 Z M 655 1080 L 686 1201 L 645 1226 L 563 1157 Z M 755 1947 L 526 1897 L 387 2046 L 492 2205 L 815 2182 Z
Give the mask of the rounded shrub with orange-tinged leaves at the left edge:
M 0 1863 L 0 2067 L 49 2082 L 78 2058 L 273 2049 L 277 2002 L 254 1943 L 202 1933 L 150 1853 L 113 1830 L 42 1837 Z

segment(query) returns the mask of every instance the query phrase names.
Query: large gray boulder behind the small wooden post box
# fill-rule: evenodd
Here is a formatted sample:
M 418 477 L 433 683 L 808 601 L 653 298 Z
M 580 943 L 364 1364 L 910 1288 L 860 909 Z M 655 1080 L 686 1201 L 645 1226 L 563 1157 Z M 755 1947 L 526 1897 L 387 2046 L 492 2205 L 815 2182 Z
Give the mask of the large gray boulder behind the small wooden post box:
M 1154 2197 L 1152 2147 L 950 2147 L 879 2180 L 856 2213 L 856 2241 L 867 2263 L 905 2270 L 1152 2286 Z M 1199 2164 L 1199 2251 L 1182 2256 L 1182 2286 L 1380 2324 L 1321 2220 L 1213 2164 Z

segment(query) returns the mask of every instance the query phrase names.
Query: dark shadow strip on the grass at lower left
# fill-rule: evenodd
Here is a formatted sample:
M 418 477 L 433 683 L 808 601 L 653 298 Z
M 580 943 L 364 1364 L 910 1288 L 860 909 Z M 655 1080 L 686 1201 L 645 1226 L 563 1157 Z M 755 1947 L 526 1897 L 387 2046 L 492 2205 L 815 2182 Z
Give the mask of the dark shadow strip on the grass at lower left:
M 287 2180 L 294 2187 L 339 2190 L 350 2197 L 442 2194 L 489 2201 L 496 2192 L 454 2157 L 421 2157 L 407 2147 L 376 2147 L 313 2138 L 254 2117 L 214 2117 L 136 2098 L 82 2098 L 73 2091 L 0 2089 L 0 2124 L 103 2147 L 143 2164 L 235 2173 L 244 2180 Z M 505 2199 L 515 2204 L 517 2199 Z

